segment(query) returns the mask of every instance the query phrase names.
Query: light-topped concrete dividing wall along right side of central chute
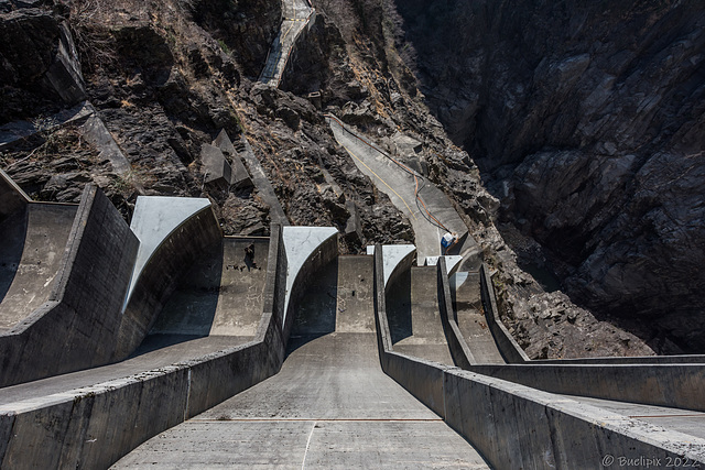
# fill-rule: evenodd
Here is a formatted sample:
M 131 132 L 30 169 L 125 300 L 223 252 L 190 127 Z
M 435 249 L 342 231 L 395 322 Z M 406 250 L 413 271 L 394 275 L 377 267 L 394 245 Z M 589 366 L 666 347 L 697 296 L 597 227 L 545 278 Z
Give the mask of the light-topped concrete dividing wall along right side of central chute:
M 376 250 L 375 284 L 382 369 L 473 444 L 492 467 L 600 469 L 607 455 L 661 458 L 662 462 L 686 458 L 705 463 L 705 439 L 393 352 L 386 319 L 381 250 Z

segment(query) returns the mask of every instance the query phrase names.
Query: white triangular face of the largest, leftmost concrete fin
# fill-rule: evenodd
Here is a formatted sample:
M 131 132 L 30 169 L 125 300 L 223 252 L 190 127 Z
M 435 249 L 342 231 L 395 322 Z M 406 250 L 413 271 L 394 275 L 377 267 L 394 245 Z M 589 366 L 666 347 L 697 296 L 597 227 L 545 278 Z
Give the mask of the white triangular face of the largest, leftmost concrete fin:
M 128 305 L 144 265 L 159 245 L 178 226 L 206 207 L 210 207 L 210 201 L 206 198 L 167 196 L 139 196 L 137 198 L 130 229 L 140 240 L 140 249 L 123 308 Z

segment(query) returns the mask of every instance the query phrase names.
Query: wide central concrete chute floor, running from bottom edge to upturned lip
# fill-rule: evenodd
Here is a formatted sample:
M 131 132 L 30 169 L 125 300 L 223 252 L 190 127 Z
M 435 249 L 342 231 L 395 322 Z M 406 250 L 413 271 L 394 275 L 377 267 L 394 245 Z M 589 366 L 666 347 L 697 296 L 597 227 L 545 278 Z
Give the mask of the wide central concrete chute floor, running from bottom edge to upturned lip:
M 381 371 L 367 284 L 372 271 L 371 256 L 325 266 L 300 307 L 316 305 L 315 313 L 295 311 L 280 373 L 162 433 L 113 468 L 487 468 Z

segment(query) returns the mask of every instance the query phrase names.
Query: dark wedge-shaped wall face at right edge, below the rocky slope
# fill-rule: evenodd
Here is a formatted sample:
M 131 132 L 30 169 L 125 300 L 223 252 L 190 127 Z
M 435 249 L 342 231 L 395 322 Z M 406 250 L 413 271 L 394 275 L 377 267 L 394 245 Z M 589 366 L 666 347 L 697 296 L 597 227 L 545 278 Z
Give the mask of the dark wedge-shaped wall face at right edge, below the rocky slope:
M 552 393 L 705 412 L 705 364 L 475 365 L 468 370 Z

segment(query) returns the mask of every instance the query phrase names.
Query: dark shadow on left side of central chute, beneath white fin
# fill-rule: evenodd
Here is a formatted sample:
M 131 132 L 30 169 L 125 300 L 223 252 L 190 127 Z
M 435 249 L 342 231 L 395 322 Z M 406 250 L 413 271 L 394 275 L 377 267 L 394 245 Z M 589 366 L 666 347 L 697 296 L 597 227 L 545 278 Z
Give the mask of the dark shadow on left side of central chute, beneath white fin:
M 338 259 L 326 264 L 308 283 L 294 309 L 286 356 L 322 336 L 335 331 L 338 297 Z

